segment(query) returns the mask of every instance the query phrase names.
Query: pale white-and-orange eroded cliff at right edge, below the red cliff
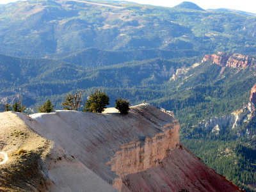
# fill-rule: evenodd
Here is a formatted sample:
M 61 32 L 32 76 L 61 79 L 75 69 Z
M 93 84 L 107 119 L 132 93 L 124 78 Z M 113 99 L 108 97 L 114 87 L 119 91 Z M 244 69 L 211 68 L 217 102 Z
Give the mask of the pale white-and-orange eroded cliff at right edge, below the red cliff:
M 214 116 L 212 118 L 207 118 L 202 120 L 197 126 L 198 128 L 206 131 L 211 131 L 214 134 L 219 134 L 222 129 L 233 129 L 237 132 L 238 136 L 250 135 L 248 129 L 241 131 L 237 129 L 239 125 L 250 122 L 255 116 L 255 104 L 256 104 L 256 84 L 251 90 L 250 100 L 247 104 L 243 105 L 243 108 L 237 109 L 236 111 L 224 115 L 224 116 Z

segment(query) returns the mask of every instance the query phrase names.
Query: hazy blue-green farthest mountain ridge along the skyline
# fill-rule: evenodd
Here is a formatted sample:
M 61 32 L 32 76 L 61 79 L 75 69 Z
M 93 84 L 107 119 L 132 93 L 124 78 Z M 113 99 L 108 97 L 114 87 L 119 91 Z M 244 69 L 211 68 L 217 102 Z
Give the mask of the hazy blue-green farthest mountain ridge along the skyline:
M 10 56 L 45 57 L 88 48 L 256 52 L 256 17 L 205 12 L 189 2 L 163 8 L 112 1 L 19 1 L 1 6 L 0 17 L 0 52 Z

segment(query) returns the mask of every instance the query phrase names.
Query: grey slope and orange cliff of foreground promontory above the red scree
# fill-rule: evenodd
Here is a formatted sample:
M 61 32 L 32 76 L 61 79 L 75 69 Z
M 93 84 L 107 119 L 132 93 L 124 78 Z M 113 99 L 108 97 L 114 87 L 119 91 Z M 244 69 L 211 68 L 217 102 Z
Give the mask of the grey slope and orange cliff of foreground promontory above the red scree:
M 56 142 L 108 182 L 113 182 L 116 172 L 131 173 L 150 168 L 155 160 L 163 159 L 164 150 L 172 150 L 179 143 L 179 123 L 172 113 L 164 113 L 149 104 L 133 106 L 125 116 L 57 111 L 31 117 L 32 122 L 25 120 L 36 132 Z M 138 164 L 129 167 L 129 162 L 116 161 L 116 170 L 111 163 L 115 164 L 115 157 L 122 156 L 124 150 L 129 151 L 129 162 Z M 125 158 L 121 159 L 126 161 Z

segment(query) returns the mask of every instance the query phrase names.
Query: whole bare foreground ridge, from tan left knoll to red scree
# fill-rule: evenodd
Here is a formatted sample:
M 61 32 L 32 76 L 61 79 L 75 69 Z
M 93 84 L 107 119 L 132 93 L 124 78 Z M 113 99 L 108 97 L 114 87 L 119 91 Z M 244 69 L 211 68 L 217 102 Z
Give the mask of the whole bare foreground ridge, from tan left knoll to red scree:
M 239 191 L 179 143 L 179 123 L 172 112 L 149 104 L 131 107 L 127 116 L 1 113 L 1 127 L 1 151 L 10 157 L 0 165 L 3 190 Z M 20 129 L 24 134 L 11 136 Z M 22 170 L 24 159 L 33 162 L 26 165 L 33 177 L 11 179 Z M 10 166 L 19 167 L 11 172 Z

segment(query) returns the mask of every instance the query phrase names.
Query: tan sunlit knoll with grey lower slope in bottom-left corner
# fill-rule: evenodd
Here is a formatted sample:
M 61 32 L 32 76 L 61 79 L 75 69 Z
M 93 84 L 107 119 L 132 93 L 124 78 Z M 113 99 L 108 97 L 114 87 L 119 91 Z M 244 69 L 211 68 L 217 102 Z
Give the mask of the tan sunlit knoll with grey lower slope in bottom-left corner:
M 116 191 L 18 115 L 0 113 L 0 191 Z

